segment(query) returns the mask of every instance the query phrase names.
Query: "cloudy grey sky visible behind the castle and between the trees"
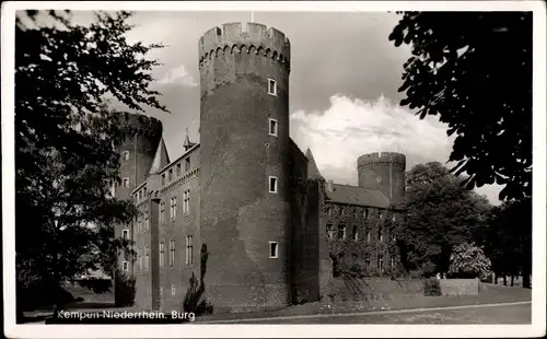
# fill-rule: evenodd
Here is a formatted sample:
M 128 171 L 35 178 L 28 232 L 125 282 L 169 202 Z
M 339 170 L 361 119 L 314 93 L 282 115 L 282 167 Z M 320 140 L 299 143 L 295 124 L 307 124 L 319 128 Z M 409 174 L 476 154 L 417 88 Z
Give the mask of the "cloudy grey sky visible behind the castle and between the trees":
M 89 22 L 91 12 L 74 12 Z M 150 57 L 153 87 L 171 114 L 160 118 L 171 159 L 183 154 L 186 130 L 199 140 L 198 40 L 208 30 L 230 22 L 251 22 L 251 12 L 136 12 L 131 42 L 162 43 Z M 290 131 L 303 152 L 310 148 L 321 173 L 339 184 L 357 185 L 357 157 L 394 151 L 407 156 L 407 171 L 429 161 L 446 163 L 453 137 L 435 117 L 420 120 L 400 107 L 403 65 L 410 47 L 395 47 L 388 35 L 395 13 L 253 12 L 253 21 L 274 26 L 291 40 Z M 449 166 L 451 164 L 447 164 Z M 499 204 L 501 187 L 476 191 Z

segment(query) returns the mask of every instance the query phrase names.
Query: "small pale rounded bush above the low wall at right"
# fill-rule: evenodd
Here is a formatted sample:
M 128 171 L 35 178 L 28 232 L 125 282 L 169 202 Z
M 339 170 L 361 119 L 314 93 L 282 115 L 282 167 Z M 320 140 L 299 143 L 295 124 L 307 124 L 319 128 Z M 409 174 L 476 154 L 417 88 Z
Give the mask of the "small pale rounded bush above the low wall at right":
M 490 273 L 490 259 L 475 244 L 459 244 L 450 256 L 449 274 L 455 278 L 486 279 Z

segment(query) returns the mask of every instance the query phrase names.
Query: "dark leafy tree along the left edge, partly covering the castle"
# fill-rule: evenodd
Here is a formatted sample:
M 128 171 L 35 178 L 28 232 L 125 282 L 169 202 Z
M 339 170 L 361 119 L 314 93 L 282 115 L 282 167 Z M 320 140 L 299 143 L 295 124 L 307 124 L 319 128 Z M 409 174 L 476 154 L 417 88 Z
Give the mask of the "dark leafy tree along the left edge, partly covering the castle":
M 130 109 L 166 108 L 149 89 L 160 45 L 129 44 L 131 13 L 96 13 L 89 26 L 69 12 L 18 13 L 15 30 L 15 217 L 20 279 L 63 279 L 103 266 L 118 249 L 114 224 L 136 215 L 115 199 L 124 131 L 109 95 Z M 28 236 L 32 235 L 32 236 Z M 129 253 L 130 255 L 130 253 Z M 22 282 L 26 284 L 26 282 Z

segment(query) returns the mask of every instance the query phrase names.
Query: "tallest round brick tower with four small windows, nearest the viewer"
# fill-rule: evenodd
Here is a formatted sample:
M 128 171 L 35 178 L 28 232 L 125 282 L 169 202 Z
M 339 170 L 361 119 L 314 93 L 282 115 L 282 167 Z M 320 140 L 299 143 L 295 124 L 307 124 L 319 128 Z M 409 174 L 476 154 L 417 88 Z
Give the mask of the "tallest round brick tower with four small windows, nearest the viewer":
M 265 25 L 199 39 L 201 265 L 217 308 L 290 302 L 289 62 L 289 39 Z

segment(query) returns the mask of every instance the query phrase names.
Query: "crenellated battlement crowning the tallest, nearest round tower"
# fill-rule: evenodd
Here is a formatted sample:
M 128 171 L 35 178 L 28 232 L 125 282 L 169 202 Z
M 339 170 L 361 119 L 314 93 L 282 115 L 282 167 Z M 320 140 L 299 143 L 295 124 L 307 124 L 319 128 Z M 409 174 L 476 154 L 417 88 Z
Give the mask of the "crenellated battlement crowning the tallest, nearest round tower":
M 289 67 L 291 44 L 280 31 L 257 23 L 226 23 L 199 38 L 199 66 L 219 55 L 254 52 Z

